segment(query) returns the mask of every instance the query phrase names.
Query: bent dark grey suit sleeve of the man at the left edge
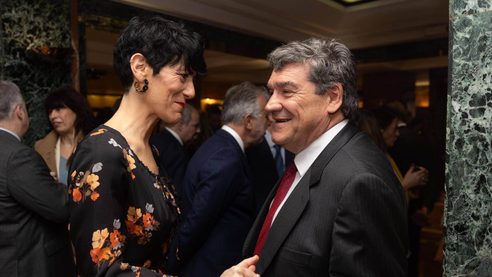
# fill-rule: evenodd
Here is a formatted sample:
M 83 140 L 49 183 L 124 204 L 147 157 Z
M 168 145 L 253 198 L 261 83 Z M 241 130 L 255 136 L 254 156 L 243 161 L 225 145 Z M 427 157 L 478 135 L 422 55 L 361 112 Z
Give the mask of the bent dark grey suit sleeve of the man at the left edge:
M 66 186 L 57 183 L 43 158 L 34 150 L 22 147 L 7 161 L 7 185 L 12 197 L 42 217 L 68 222 Z

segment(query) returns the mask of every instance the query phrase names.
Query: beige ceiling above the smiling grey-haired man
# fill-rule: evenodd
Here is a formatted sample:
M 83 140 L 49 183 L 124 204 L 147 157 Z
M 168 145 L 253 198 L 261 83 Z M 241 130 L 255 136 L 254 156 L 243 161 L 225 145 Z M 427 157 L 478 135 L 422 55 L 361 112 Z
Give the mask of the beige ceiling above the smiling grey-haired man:
M 281 42 L 337 37 L 351 49 L 447 37 L 448 0 L 114 0 Z

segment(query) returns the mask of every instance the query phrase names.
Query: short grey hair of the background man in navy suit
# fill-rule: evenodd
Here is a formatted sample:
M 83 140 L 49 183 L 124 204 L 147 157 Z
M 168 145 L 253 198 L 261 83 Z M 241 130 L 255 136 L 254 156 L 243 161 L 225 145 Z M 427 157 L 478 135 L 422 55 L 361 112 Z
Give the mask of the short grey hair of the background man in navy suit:
M 222 115 L 220 116 L 222 122 L 240 123 L 247 114 L 251 114 L 255 119 L 261 118 L 262 111 L 256 99 L 257 96 L 263 96 L 267 101 L 270 99 L 270 93 L 266 88 L 255 86 L 251 82 L 232 86 L 225 93 Z

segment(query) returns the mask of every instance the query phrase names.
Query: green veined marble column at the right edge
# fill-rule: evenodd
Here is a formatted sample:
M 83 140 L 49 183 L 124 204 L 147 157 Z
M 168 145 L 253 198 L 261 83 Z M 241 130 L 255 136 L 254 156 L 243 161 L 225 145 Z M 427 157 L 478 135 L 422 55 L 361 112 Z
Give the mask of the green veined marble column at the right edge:
M 444 276 L 492 276 L 492 0 L 450 0 Z

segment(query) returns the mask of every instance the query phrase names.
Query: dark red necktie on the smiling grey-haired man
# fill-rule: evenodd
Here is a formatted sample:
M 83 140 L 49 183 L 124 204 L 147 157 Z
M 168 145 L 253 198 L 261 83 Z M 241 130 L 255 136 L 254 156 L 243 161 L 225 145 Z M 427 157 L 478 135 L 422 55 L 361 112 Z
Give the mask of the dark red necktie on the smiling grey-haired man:
M 272 202 L 272 206 L 270 206 L 270 210 L 268 211 L 267 217 L 265 217 L 265 221 L 263 222 L 263 226 L 261 227 L 260 235 L 258 236 L 256 246 L 254 247 L 255 255 L 259 256 L 261 253 L 261 249 L 263 249 L 263 245 L 265 244 L 265 240 L 267 239 L 268 231 L 270 230 L 270 225 L 272 225 L 275 212 L 277 212 L 278 206 L 280 206 L 283 199 L 287 195 L 290 186 L 292 185 L 292 183 L 294 183 L 296 172 L 297 167 L 295 163 L 292 162 L 283 175 L 282 182 L 280 182 L 280 185 L 278 186 L 277 193 L 275 194 L 274 201 Z

